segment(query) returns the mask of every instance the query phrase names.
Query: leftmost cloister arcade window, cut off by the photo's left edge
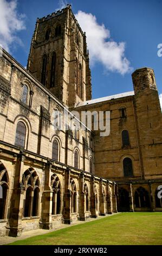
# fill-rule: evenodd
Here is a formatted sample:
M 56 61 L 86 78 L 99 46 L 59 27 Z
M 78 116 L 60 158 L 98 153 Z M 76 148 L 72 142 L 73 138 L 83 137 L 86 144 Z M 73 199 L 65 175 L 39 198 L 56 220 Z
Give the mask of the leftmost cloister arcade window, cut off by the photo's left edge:
M 9 189 L 8 173 L 0 162 L 0 220 L 7 217 L 7 196 Z

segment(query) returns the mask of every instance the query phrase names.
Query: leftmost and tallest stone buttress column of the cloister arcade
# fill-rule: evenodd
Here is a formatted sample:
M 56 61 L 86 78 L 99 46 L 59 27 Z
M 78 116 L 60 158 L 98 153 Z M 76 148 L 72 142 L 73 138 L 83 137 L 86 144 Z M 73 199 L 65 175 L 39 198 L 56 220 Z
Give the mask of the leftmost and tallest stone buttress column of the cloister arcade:
M 22 214 L 24 200 L 24 185 L 22 175 L 24 170 L 25 154 L 20 151 L 17 155 L 14 173 L 14 186 L 10 199 L 10 209 L 8 211 L 7 235 L 21 236 L 22 234 Z

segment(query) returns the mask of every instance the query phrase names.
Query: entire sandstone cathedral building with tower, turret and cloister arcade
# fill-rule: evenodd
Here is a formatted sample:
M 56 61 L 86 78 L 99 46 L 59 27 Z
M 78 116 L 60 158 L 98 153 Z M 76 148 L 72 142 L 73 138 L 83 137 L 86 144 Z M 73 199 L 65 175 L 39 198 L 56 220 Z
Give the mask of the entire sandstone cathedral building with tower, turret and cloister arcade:
M 117 211 L 162 211 L 162 116 L 154 71 L 138 69 L 132 79 L 132 92 L 92 100 L 86 34 L 70 5 L 37 19 L 27 70 L 3 50 L 1 236 Z M 64 109 L 74 130 L 54 129 L 53 113 L 61 122 Z M 109 136 L 80 129 L 74 110 L 109 111 Z

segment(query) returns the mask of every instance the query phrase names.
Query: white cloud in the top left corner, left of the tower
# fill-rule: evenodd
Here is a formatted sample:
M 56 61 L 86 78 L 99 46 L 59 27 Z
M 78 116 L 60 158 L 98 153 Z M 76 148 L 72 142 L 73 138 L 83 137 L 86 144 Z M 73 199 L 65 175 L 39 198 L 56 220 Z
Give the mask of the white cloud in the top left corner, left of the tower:
M 17 0 L 0 0 L 0 44 L 10 51 L 13 42 L 22 44 L 16 33 L 25 29 L 24 15 L 17 13 Z

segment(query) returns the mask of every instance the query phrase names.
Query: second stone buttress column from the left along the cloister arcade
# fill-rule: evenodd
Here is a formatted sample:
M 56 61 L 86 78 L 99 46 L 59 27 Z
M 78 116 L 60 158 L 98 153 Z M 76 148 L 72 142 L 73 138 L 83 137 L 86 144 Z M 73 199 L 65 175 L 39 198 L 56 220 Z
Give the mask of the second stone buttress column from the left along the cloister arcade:
M 42 193 L 42 211 L 40 218 L 40 228 L 42 229 L 53 228 L 51 220 L 53 190 L 50 186 L 52 165 L 53 162 L 48 161 L 44 168 L 44 191 Z

